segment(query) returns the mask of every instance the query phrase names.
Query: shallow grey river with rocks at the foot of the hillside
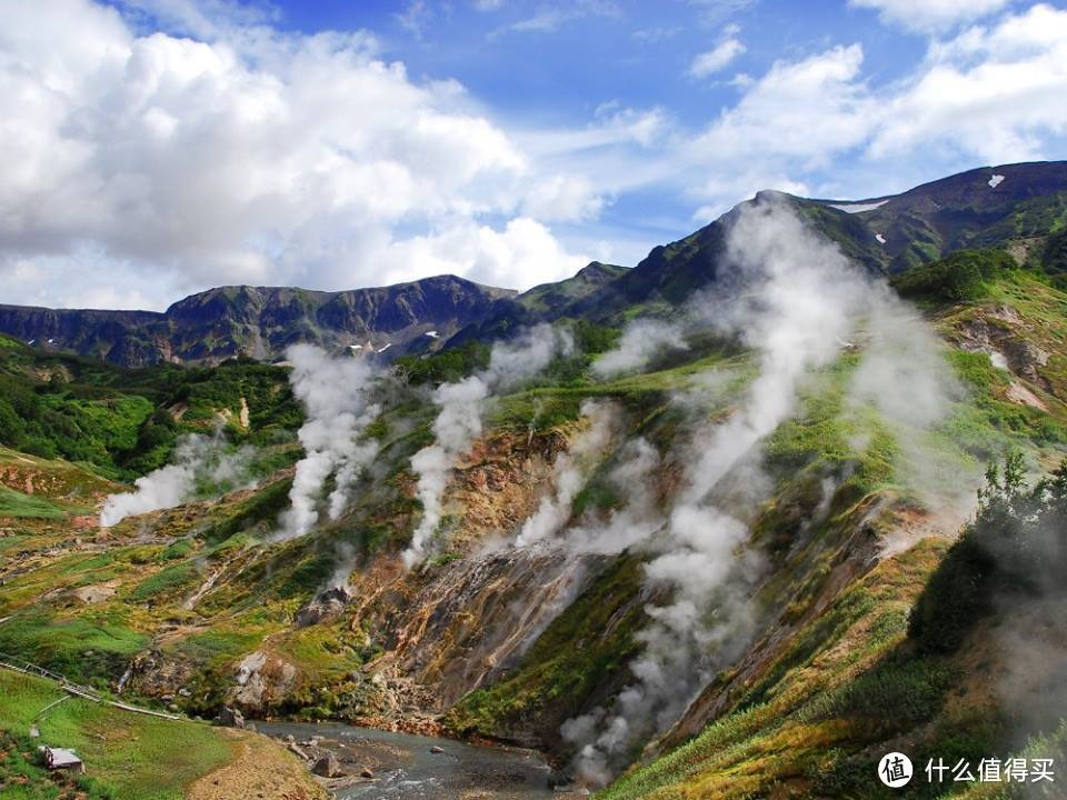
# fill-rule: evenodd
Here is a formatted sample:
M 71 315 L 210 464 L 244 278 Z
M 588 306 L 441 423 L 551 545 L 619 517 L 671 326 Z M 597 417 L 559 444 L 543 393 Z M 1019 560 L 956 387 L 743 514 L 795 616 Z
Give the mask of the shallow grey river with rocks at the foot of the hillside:
M 257 722 L 257 729 L 297 741 L 321 737 L 353 781 L 332 787 L 340 800 L 564 800 L 549 788 L 551 768 L 530 750 L 478 747 L 452 739 L 395 733 L 340 723 Z M 439 748 L 441 752 L 432 752 Z M 373 779 L 360 779 L 365 767 Z

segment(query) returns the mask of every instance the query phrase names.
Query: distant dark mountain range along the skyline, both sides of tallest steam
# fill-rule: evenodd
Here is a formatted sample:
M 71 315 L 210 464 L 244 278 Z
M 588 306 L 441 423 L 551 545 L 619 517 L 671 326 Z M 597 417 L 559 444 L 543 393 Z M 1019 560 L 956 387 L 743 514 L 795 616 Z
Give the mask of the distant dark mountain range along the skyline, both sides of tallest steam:
M 849 257 L 889 274 L 963 248 L 1011 242 L 1025 257 L 1029 234 L 1067 220 L 1067 161 L 986 167 L 858 201 L 781 197 Z M 715 280 L 736 212 L 654 248 L 634 269 L 594 262 L 574 278 L 521 294 L 455 276 L 339 292 L 222 287 L 163 312 L 0 306 L 0 332 L 127 367 L 237 356 L 273 361 L 300 341 L 390 358 L 539 320 L 614 321 L 634 307 L 655 312 L 677 306 Z

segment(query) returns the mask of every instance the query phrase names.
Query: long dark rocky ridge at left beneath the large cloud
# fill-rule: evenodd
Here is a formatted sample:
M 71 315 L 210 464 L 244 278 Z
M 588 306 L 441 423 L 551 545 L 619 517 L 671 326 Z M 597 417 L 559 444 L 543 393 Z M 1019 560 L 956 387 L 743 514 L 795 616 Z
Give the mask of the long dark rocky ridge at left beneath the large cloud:
M 161 313 L 0 306 L 0 332 L 124 367 L 275 361 L 295 342 L 402 352 L 423 339 L 446 341 L 513 294 L 453 276 L 339 292 L 221 287 Z

